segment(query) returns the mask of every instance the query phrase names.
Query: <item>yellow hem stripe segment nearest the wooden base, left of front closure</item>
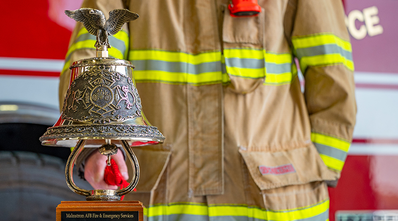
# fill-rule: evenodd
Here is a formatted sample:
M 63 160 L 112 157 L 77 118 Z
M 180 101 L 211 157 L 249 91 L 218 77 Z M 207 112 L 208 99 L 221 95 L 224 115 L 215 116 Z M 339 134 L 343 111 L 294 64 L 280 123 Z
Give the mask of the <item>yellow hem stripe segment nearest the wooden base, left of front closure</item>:
M 206 205 L 195 204 L 170 204 L 160 206 L 150 206 L 148 208 L 148 217 L 164 216 L 171 214 L 190 214 L 207 216 L 208 210 Z

